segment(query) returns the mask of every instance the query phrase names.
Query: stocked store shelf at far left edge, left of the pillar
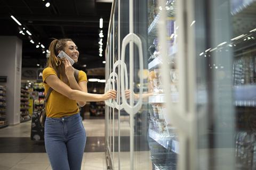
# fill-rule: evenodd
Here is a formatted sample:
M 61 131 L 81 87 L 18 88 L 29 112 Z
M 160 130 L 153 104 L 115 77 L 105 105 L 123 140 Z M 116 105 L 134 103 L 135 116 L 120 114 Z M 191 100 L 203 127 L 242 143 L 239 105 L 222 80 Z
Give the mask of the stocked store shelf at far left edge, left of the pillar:
M 0 128 L 8 126 L 6 121 L 6 87 L 0 85 Z

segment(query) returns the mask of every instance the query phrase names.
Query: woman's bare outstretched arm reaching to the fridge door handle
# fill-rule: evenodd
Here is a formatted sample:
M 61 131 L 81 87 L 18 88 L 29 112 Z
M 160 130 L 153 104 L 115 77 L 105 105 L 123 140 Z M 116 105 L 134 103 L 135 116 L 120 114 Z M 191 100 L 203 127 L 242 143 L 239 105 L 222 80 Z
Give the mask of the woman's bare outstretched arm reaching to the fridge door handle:
M 116 98 L 116 91 L 109 90 L 105 94 L 89 94 L 87 92 L 73 90 L 67 84 L 62 82 L 57 75 L 49 75 L 45 82 L 60 94 L 77 101 L 103 101 Z

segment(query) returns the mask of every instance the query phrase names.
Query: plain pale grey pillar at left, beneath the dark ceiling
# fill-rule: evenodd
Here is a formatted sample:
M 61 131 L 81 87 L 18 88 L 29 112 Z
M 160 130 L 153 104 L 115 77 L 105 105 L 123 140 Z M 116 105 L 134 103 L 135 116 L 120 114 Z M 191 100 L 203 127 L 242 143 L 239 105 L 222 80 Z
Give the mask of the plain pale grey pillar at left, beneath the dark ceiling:
M 14 36 L 0 36 L 0 75 L 7 76 L 6 116 L 9 125 L 20 123 L 20 87 L 22 41 Z

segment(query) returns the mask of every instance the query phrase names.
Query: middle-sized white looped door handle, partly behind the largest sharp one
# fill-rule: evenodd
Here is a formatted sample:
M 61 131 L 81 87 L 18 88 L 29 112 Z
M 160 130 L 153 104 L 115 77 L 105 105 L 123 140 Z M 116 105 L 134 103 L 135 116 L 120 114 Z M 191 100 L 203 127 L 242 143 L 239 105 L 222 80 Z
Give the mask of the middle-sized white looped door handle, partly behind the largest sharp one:
M 124 88 L 125 88 L 125 90 L 127 90 L 128 89 L 128 74 L 127 74 L 126 64 L 121 60 L 116 61 L 115 64 L 114 64 L 114 67 L 113 67 L 113 73 L 114 74 L 116 74 L 116 67 L 118 65 L 121 65 L 121 69 L 124 70 L 124 77 L 125 77 L 125 87 Z M 121 76 L 123 76 L 123 75 L 121 75 Z M 113 77 L 113 79 L 114 79 L 114 77 Z M 117 77 L 117 81 L 118 81 L 118 77 Z M 123 87 L 121 85 L 121 89 L 122 88 Z M 114 86 L 114 90 L 115 90 L 115 86 Z M 125 98 L 123 100 L 125 100 Z M 115 99 L 114 99 L 114 105 L 115 105 L 115 108 L 118 109 L 118 110 L 122 110 L 124 108 L 124 103 L 119 105 Z

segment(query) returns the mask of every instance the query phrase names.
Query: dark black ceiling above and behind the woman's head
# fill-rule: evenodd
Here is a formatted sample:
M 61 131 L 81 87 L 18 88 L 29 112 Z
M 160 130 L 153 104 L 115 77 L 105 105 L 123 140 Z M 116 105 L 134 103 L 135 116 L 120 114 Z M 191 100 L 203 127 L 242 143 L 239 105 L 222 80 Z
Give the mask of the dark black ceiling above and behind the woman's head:
M 45 4 L 49 2 L 50 6 Z M 87 70 L 105 67 L 104 55 L 99 56 L 99 19 L 103 19 L 103 53 L 107 41 L 111 3 L 97 0 L 0 0 L 0 36 L 17 36 L 22 39 L 22 67 L 45 66 L 46 53 L 36 48 L 38 43 L 49 47 L 52 38 L 71 38 L 79 50 L 77 69 Z M 13 15 L 21 24 L 19 26 Z M 19 27 L 31 32 L 19 33 Z M 86 64 L 86 67 L 83 65 Z

